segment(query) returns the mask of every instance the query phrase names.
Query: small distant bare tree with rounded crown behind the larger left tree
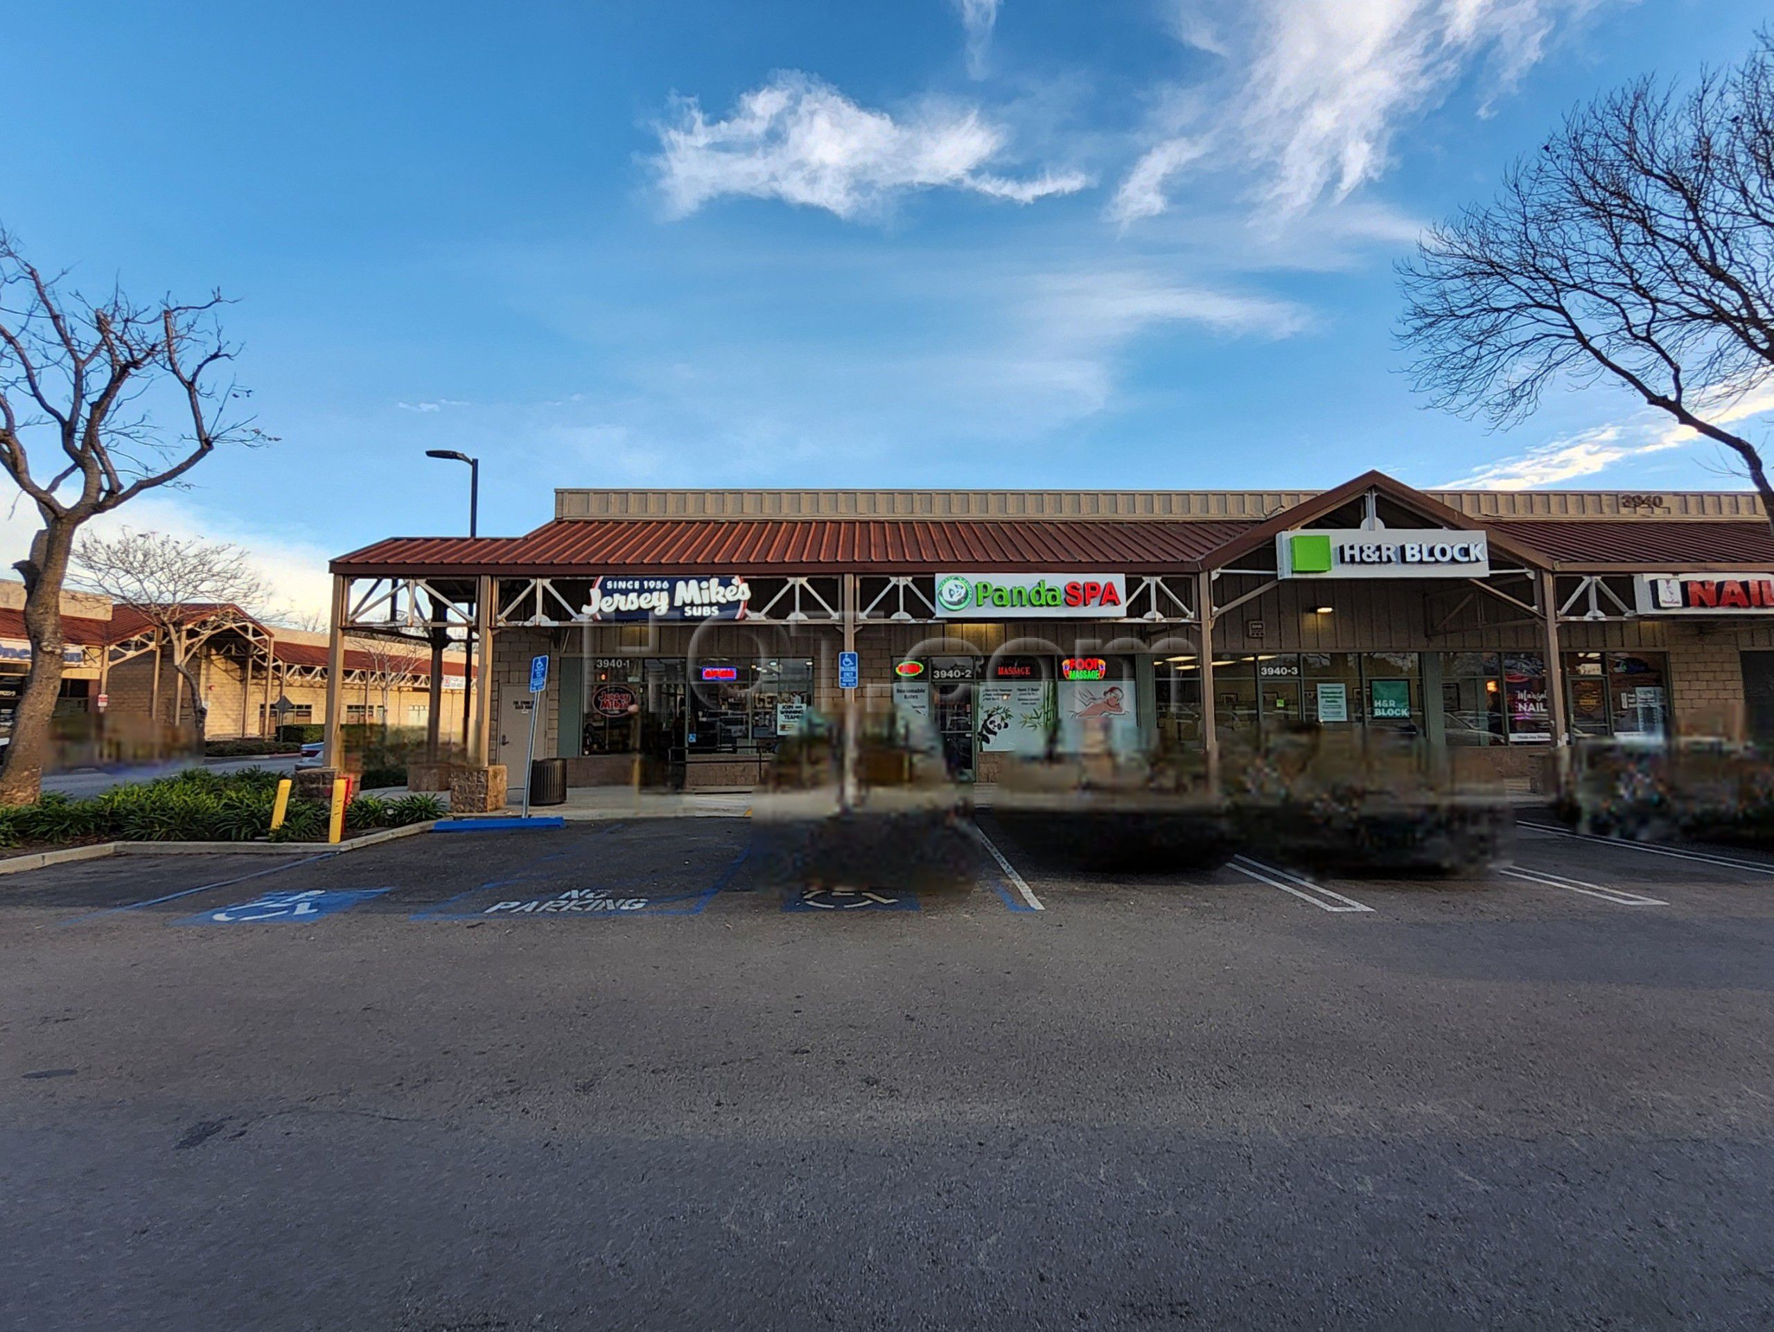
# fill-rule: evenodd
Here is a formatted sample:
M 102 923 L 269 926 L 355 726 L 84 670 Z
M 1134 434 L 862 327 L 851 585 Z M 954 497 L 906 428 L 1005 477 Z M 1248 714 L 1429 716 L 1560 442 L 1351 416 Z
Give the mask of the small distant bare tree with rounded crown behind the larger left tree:
M 202 743 L 209 706 L 193 663 L 206 642 L 229 630 L 255 626 L 252 607 L 266 587 L 239 546 L 131 532 L 115 537 L 87 532 L 75 543 L 78 582 L 103 592 L 154 628 L 156 653 L 177 672 L 190 693 L 197 741 Z

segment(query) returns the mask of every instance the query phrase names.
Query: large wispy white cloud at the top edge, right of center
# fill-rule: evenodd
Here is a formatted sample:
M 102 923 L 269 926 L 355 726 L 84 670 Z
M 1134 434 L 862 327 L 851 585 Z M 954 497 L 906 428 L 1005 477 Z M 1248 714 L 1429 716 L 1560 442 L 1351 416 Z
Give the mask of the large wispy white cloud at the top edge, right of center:
M 1378 179 L 1400 126 L 1437 106 L 1472 69 L 1483 71 L 1487 114 L 1542 59 L 1556 23 L 1593 4 L 1189 0 L 1176 5 L 1171 27 L 1187 46 L 1226 57 L 1215 110 L 1196 133 L 1219 161 L 1254 170 L 1265 209 L 1286 215 Z M 1174 170 L 1157 172 L 1151 153 L 1176 138 L 1178 126 L 1153 131 L 1160 142 L 1128 174 L 1128 204 L 1112 216 L 1153 216 L 1166 206 Z M 1135 181 L 1141 172 L 1144 184 Z

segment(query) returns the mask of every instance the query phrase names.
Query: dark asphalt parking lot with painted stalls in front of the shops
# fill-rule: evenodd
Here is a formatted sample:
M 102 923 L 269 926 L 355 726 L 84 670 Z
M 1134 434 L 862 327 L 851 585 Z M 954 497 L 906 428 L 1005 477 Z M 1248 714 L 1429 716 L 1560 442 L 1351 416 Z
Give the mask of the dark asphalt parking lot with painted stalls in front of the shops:
M 0 880 L 5 1328 L 1774 1321 L 1774 857 L 910 889 L 750 819 Z

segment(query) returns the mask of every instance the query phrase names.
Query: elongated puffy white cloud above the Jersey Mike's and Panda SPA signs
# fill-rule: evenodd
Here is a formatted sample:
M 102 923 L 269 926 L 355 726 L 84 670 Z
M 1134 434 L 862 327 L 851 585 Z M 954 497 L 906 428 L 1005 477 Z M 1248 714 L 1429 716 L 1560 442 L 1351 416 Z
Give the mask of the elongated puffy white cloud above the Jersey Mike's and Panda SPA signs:
M 986 170 L 1002 154 L 1006 133 L 977 110 L 928 105 L 896 121 L 800 73 L 775 74 L 747 92 L 726 121 L 710 121 L 695 99 L 681 99 L 658 135 L 653 165 L 672 216 L 724 195 L 855 218 L 912 190 L 967 190 L 1027 204 L 1089 184 L 1077 172 L 1013 179 Z

